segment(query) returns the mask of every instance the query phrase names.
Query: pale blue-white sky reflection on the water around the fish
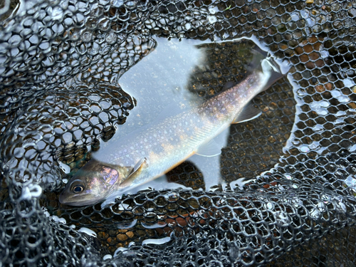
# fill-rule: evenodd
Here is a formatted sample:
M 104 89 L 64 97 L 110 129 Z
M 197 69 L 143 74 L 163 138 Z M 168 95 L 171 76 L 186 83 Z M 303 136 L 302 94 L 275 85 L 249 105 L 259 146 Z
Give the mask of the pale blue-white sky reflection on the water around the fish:
M 135 98 L 136 106 L 130 110 L 130 115 L 124 125 L 120 125 L 117 134 L 114 135 L 107 142 L 100 143 L 100 150 L 93 153 L 93 158 L 100 162 L 106 162 L 108 155 L 112 157 L 112 147 L 117 146 L 117 142 L 120 142 L 123 136 L 131 135 L 131 132 L 150 125 L 152 122 L 162 120 L 167 115 L 175 115 L 180 110 L 189 110 L 199 105 L 204 98 L 209 98 L 209 95 L 205 95 L 204 98 L 198 96 L 198 92 L 204 92 L 204 78 L 200 83 L 196 83 L 197 80 L 201 80 L 197 76 L 197 70 L 206 70 L 209 68 L 209 57 L 211 56 L 211 45 L 208 41 L 202 42 L 197 40 L 182 41 L 172 40 L 168 41 L 166 38 L 156 38 L 157 44 L 155 50 L 145 56 L 142 61 L 132 64 L 129 70 L 127 70 L 118 80 L 118 83 L 126 93 L 129 93 L 132 98 Z M 243 43 L 250 41 L 255 43 L 261 50 L 268 51 L 266 46 L 259 43 L 256 38 L 242 38 L 237 39 L 234 42 Z M 230 44 L 231 42 L 220 42 L 221 45 Z M 239 51 L 241 56 L 244 57 L 246 53 L 251 54 L 253 46 L 245 47 L 245 51 Z M 249 50 L 249 51 L 248 51 Z M 269 51 L 268 51 L 269 52 Z M 245 58 L 247 60 L 247 58 Z M 241 66 L 246 68 L 245 66 Z M 287 67 L 281 65 L 286 71 Z M 212 73 L 214 75 L 214 73 Z M 201 88 L 199 88 L 199 86 Z M 231 87 L 231 85 L 230 85 Z M 93 99 L 95 100 L 95 99 Z M 175 126 L 175 125 L 174 125 Z M 180 127 L 179 125 L 177 125 Z M 174 129 L 169 129 L 169 131 Z M 229 128 L 221 132 L 218 137 L 214 138 L 214 142 L 221 149 L 226 147 L 227 140 L 229 138 Z M 157 137 L 155 137 L 157 138 Z M 155 141 L 152 139 L 152 144 L 155 145 Z M 142 142 L 146 140 L 137 140 Z M 134 144 L 135 145 L 135 144 Z M 224 179 L 221 179 L 221 156 L 215 157 L 201 157 L 194 155 L 187 159 L 192 162 L 194 166 L 199 169 L 204 177 L 204 184 L 199 186 L 201 189 L 216 190 L 216 185 L 222 185 L 226 187 Z M 63 166 L 63 165 L 62 165 Z M 230 183 L 232 189 L 244 184 L 242 181 Z M 121 197 L 122 194 L 135 194 L 144 189 L 176 189 L 187 188 L 182 184 L 175 184 L 167 181 L 167 177 L 161 177 L 153 181 L 145 183 L 140 182 L 139 187 L 125 187 L 120 192 L 114 192 L 108 197 L 102 206 L 106 206 L 115 202 L 117 197 Z

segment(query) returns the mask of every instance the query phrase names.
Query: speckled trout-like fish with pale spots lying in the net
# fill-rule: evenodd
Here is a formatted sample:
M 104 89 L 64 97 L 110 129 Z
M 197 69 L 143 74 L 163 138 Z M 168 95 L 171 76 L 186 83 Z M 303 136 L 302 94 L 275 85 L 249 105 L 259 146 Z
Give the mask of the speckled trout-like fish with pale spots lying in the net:
M 115 145 L 105 147 L 105 162 L 90 159 L 73 175 L 59 201 L 71 206 L 96 204 L 162 176 L 192 155 L 220 155 L 214 137 L 233 123 L 261 115 L 251 100 L 286 75 L 288 68 L 286 61 L 274 56 L 260 58 L 241 83 L 195 108 L 162 115 L 120 137 Z

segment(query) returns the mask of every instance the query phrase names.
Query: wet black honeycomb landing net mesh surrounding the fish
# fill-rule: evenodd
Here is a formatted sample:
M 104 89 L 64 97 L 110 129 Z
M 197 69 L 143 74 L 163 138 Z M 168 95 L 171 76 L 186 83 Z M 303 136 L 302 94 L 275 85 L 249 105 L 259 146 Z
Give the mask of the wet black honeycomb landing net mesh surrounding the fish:
M 355 266 L 356 1 L 23 5 L 0 6 L 0 266 Z M 244 78 L 248 44 L 231 39 L 252 35 L 290 61 L 295 83 L 280 80 L 254 100 L 260 117 L 231 126 L 221 175 L 256 179 L 204 192 L 184 162 L 167 176 L 192 189 L 59 204 L 59 162 L 75 173 L 130 120 L 120 76 L 155 36 L 226 41 L 206 44 L 192 77 L 207 98 Z

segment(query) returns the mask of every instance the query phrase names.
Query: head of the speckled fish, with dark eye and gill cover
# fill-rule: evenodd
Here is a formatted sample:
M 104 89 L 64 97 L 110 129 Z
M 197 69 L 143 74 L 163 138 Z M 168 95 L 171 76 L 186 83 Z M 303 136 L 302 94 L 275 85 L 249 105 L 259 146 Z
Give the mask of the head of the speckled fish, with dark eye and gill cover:
M 91 159 L 69 180 L 59 201 L 71 206 L 95 204 L 105 199 L 125 177 L 125 168 L 117 169 Z

